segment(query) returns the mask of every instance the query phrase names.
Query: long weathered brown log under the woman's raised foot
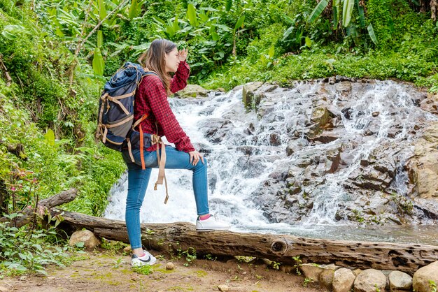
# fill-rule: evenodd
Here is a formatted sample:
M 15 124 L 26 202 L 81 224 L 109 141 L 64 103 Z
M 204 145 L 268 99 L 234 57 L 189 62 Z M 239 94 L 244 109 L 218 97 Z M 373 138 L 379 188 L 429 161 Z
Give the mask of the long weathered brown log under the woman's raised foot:
M 64 212 L 61 228 L 87 228 L 99 237 L 129 243 L 125 221 L 61 210 L 52 210 L 52 216 L 60 212 Z M 334 263 L 412 273 L 438 260 L 438 246 L 432 245 L 320 240 L 230 231 L 199 233 L 195 225 L 185 222 L 141 224 L 141 234 L 143 245 L 157 251 L 170 253 L 194 248 L 197 255 L 255 256 L 283 264 L 295 264 L 292 257 L 299 256 L 302 263 Z

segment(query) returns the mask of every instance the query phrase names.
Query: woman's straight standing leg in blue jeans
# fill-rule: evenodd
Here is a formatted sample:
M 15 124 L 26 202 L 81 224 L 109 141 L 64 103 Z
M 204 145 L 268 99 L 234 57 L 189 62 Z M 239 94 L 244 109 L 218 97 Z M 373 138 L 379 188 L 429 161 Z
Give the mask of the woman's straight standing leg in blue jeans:
M 145 170 L 134 163 L 128 166 L 128 195 L 126 198 L 126 228 L 132 249 L 141 248 L 140 207 L 146 194 L 150 178 L 150 168 Z

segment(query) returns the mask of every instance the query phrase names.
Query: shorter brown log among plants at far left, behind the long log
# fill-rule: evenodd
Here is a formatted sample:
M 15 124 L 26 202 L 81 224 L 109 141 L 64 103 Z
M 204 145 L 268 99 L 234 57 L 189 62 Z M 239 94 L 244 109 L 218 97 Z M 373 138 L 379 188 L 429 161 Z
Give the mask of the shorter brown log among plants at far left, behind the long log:
M 38 202 L 38 205 L 36 206 L 36 210 L 38 210 L 40 214 L 44 214 L 44 210 L 50 210 L 52 209 L 52 207 L 57 207 L 64 203 L 71 202 L 76 198 L 76 194 L 78 194 L 77 189 L 69 189 L 67 191 L 62 191 L 59 194 L 56 194 L 55 196 L 51 196 L 50 198 L 45 198 L 43 200 L 40 200 Z M 25 210 L 23 210 L 21 217 L 15 218 L 15 221 L 13 221 L 14 226 L 20 228 L 21 226 L 28 224 L 31 221 L 33 215 L 34 215 L 34 207 L 32 207 L 31 209 L 26 208 Z M 0 218 L 0 223 L 4 223 L 8 221 L 10 221 L 9 218 L 6 217 Z

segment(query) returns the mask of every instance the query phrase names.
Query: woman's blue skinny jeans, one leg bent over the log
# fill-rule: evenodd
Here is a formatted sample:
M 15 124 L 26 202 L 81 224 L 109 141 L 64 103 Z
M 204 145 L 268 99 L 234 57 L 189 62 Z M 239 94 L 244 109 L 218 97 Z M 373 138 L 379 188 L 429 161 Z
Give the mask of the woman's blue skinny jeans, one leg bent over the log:
M 146 194 L 146 188 L 152 168 L 158 168 L 157 152 L 144 151 L 146 169 L 141 169 L 140 150 L 133 149 L 135 163 L 129 158 L 127 151 L 122 152 L 122 157 L 128 167 L 128 195 L 126 198 L 125 220 L 128 231 L 129 243 L 132 249 L 141 247 L 140 232 L 140 207 Z M 193 171 L 193 191 L 198 215 L 209 214 L 209 201 L 207 195 L 207 161 L 199 161 L 196 166 L 190 163 L 190 155 L 178 151 L 175 147 L 166 146 L 166 166 L 168 169 L 188 169 Z M 161 149 L 160 149 L 161 156 Z M 171 194 L 170 194 L 171 196 Z

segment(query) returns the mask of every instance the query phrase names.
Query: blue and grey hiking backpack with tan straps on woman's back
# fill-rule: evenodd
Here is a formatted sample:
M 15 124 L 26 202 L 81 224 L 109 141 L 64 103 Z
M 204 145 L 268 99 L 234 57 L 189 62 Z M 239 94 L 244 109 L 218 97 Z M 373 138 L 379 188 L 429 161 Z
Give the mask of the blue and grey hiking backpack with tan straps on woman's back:
M 157 75 L 148 68 L 143 69 L 141 65 L 131 62 L 125 63 L 104 85 L 104 91 L 99 98 L 99 114 L 97 117 L 97 140 L 101 140 L 106 147 L 122 152 L 124 147 L 129 150 L 129 156 L 132 162 L 135 162 L 132 155 L 130 136 L 134 128 L 147 118 L 143 115 L 134 122 L 134 101 L 137 86 L 146 75 Z M 140 149 L 144 149 L 143 131 L 140 128 L 139 140 Z M 162 184 L 163 179 L 166 186 L 167 203 L 169 194 L 167 194 L 167 180 L 164 174 L 164 165 L 166 163 L 166 150 L 164 142 L 157 135 L 150 135 L 151 143 L 157 143 L 157 158 L 160 164 L 160 170 L 154 189 L 157 190 L 157 184 Z M 162 147 L 160 157 L 159 149 Z M 143 151 L 141 151 L 141 168 L 145 169 Z

